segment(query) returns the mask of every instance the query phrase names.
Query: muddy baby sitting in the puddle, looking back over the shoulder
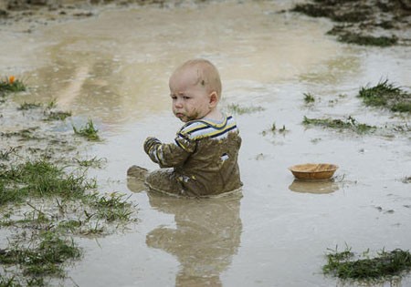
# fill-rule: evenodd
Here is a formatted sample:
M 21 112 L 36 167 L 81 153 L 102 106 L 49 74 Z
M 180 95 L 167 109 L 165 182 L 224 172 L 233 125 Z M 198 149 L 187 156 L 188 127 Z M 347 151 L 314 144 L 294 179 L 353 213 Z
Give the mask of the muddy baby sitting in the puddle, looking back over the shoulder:
M 235 119 L 217 108 L 221 80 L 216 67 L 205 59 L 189 60 L 174 71 L 169 87 L 174 115 L 185 124 L 174 143 L 146 138 L 145 152 L 162 168 L 150 173 L 146 184 L 184 197 L 241 188 L 237 164 L 241 138 Z

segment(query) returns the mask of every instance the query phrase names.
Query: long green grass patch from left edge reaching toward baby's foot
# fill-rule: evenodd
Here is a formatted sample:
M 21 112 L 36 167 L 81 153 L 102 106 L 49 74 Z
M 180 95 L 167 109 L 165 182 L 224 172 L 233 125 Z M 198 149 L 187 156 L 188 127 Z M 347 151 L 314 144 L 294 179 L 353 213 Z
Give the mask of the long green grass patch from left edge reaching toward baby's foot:
M 95 188 L 95 181 L 84 175 L 67 174 L 64 169 L 45 160 L 27 161 L 0 171 L 0 206 L 9 202 L 22 202 L 29 197 L 58 197 L 87 203 L 100 219 L 131 219 L 133 206 L 128 199 L 124 199 L 124 195 L 112 192 L 110 195 L 100 196 L 98 192 L 86 192 Z

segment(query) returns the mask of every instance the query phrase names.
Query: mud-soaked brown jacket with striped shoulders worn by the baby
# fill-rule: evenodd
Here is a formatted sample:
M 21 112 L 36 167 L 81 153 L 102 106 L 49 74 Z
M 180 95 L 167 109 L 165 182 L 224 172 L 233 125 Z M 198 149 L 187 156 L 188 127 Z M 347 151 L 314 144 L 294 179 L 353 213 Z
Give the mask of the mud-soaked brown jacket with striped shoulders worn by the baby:
M 241 187 L 237 164 L 240 146 L 237 123 L 229 116 L 219 123 L 206 119 L 189 121 L 177 132 L 174 143 L 147 138 L 144 150 L 161 168 L 173 168 L 170 180 L 176 180 L 181 188 L 175 193 L 208 196 Z M 167 184 L 161 181 L 158 185 Z M 156 184 L 155 179 L 150 184 Z

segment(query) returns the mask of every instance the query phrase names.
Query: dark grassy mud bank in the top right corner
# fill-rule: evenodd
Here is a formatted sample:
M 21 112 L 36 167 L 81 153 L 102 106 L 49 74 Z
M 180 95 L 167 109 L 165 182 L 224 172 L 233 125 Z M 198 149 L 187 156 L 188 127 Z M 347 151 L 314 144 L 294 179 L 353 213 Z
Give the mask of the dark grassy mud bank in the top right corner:
M 411 3 L 406 0 L 315 0 L 291 9 L 334 23 L 327 34 L 364 46 L 411 45 Z

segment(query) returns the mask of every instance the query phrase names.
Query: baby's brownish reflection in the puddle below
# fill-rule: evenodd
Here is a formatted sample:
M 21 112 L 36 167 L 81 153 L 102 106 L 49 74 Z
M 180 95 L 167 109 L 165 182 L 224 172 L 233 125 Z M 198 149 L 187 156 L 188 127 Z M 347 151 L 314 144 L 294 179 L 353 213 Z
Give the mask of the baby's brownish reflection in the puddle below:
M 175 228 L 159 226 L 146 236 L 147 246 L 173 254 L 180 261 L 175 286 L 222 286 L 240 244 L 241 195 L 184 200 L 148 192 L 155 210 L 174 214 Z

